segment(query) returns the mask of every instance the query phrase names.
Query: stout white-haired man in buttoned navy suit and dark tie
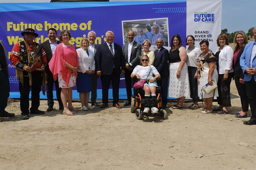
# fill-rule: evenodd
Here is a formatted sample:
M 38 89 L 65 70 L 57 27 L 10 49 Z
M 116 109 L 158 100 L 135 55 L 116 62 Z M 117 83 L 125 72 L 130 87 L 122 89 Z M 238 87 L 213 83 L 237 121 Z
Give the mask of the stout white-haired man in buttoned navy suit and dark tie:
M 121 108 L 119 100 L 120 73 L 125 74 L 125 58 L 120 45 L 114 43 L 114 33 L 107 31 L 106 42 L 99 45 L 95 54 L 95 71 L 101 76 L 102 82 L 102 106 L 108 106 L 108 89 L 110 83 L 113 89 L 113 106 Z

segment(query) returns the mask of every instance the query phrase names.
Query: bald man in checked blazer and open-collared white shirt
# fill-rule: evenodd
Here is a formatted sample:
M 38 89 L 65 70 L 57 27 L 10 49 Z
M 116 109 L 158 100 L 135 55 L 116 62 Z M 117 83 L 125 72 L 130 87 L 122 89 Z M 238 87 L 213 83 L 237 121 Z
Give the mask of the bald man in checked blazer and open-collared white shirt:
M 140 64 L 141 44 L 134 41 L 134 31 L 128 31 L 128 42 L 122 48 L 125 57 L 125 87 L 127 102 L 124 106 L 131 105 L 131 73 L 136 65 Z

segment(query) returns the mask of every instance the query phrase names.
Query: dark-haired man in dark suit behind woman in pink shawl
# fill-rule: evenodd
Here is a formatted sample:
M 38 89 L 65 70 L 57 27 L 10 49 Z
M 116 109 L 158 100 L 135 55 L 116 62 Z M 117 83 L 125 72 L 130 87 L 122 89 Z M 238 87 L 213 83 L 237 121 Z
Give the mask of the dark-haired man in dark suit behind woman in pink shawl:
M 55 51 L 56 46 L 61 42 L 56 40 L 57 31 L 55 28 L 49 28 L 47 35 L 49 37 L 49 40 L 43 42 L 41 44 L 41 47 L 46 52 L 47 62 L 49 63 L 52 58 L 52 55 Z M 49 111 L 53 110 L 54 101 L 53 101 L 52 91 L 53 91 L 54 83 L 55 83 L 55 88 L 56 88 L 56 96 L 57 96 L 57 100 L 59 103 L 59 110 L 63 110 L 63 104 L 61 102 L 61 88 L 59 88 L 59 85 L 58 85 L 58 78 L 56 81 L 53 80 L 52 72 L 49 70 L 48 65 L 46 66 L 45 71 L 47 73 L 47 84 L 46 84 L 47 105 L 48 105 L 47 111 L 49 112 Z

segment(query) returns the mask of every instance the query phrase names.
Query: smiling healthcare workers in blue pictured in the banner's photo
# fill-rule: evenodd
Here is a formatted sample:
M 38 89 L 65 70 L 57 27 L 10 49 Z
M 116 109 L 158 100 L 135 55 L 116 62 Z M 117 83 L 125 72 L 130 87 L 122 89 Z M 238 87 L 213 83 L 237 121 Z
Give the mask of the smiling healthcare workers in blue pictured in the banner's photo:
M 147 31 L 145 34 L 143 34 L 143 28 L 138 28 L 136 31 L 134 31 L 134 41 L 143 44 L 144 40 L 149 40 L 151 42 L 151 45 L 157 45 L 156 41 L 157 38 L 163 38 L 163 34 L 160 33 L 160 26 L 158 24 L 154 24 L 152 27 L 148 23 L 146 24 Z

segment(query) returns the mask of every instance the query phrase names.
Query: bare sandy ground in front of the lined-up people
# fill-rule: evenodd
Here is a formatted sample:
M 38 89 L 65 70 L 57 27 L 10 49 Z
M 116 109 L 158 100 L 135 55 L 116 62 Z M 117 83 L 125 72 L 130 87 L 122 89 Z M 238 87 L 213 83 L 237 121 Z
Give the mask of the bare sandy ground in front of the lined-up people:
M 233 113 L 241 106 L 234 81 L 231 93 Z M 166 120 L 137 120 L 130 108 L 111 103 L 75 116 L 55 110 L 20 120 L 19 102 L 11 102 L 6 111 L 16 116 L 0 123 L 0 169 L 256 169 L 256 125 L 243 125 L 249 118 L 192 111 L 191 102 L 181 110 L 169 108 L 173 104 L 168 103 Z M 73 105 L 81 107 L 79 102 Z M 46 100 L 39 109 L 46 111 Z

